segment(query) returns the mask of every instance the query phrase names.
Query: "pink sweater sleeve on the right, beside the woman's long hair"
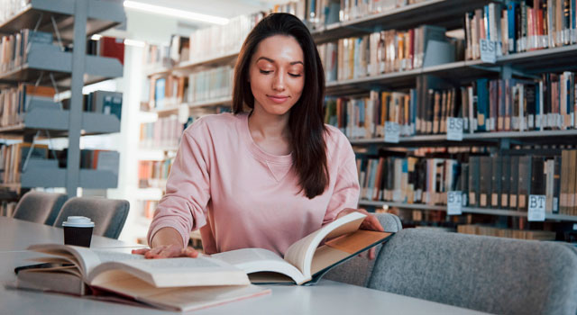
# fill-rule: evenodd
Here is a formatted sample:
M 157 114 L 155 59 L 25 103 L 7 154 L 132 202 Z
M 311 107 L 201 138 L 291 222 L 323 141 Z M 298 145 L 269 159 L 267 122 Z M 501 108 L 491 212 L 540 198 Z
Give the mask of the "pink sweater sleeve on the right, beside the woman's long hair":
M 335 174 L 334 192 L 326 207 L 323 225 L 332 222 L 336 215 L 345 208 L 356 209 L 359 202 L 360 187 L 354 151 L 344 135 L 339 134 L 339 136 L 337 146 L 340 147 L 340 158 L 336 161 L 329 161 L 329 163 L 338 163 L 338 171 Z

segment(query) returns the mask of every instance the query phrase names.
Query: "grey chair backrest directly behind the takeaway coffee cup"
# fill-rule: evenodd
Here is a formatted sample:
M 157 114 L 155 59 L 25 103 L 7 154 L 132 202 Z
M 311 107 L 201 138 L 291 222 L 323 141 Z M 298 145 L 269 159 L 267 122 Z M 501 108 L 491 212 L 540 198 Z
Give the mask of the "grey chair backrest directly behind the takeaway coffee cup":
M 99 197 L 74 197 L 64 203 L 55 227 L 62 227 L 62 222 L 71 215 L 81 215 L 95 222 L 93 234 L 106 238 L 118 238 L 123 230 L 130 203 L 125 200 L 105 199 Z

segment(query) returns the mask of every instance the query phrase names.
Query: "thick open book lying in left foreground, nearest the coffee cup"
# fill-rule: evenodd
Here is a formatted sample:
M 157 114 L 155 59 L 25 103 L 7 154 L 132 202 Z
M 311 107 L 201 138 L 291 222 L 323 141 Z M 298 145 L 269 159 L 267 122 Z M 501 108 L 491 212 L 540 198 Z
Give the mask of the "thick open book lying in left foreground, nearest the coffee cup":
M 60 244 L 28 249 L 48 254 L 40 268 L 18 273 L 19 288 L 82 295 L 116 293 L 160 309 L 193 311 L 270 293 L 240 269 L 211 257 L 144 259 L 141 255 Z

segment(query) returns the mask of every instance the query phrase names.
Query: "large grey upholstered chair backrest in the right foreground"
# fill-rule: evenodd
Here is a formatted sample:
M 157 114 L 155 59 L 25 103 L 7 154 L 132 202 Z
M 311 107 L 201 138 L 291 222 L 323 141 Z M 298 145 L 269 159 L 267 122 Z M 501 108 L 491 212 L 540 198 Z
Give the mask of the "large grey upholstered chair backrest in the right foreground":
M 565 243 L 403 229 L 369 287 L 497 314 L 575 314 L 577 251 Z

